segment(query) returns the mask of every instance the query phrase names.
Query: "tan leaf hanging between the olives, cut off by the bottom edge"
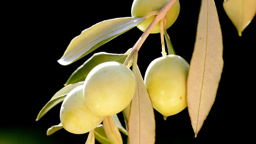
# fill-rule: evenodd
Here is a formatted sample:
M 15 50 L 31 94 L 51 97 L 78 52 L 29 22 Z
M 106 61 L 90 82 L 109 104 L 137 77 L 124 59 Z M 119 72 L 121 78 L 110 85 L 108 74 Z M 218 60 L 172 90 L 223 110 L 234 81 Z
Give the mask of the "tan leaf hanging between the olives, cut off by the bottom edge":
M 133 63 L 132 72 L 135 76 L 136 90 L 128 121 L 129 143 L 154 144 L 156 127 L 154 109 L 136 63 Z

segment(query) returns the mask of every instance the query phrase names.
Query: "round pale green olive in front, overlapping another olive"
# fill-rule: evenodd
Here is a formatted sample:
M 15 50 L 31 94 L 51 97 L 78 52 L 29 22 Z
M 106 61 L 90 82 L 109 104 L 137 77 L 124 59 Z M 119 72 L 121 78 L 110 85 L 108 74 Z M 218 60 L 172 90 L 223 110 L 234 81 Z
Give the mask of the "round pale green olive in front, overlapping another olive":
M 109 61 L 94 67 L 84 81 L 84 100 L 93 113 L 109 116 L 121 112 L 132 100 L 135 77 L 124 64 Z

